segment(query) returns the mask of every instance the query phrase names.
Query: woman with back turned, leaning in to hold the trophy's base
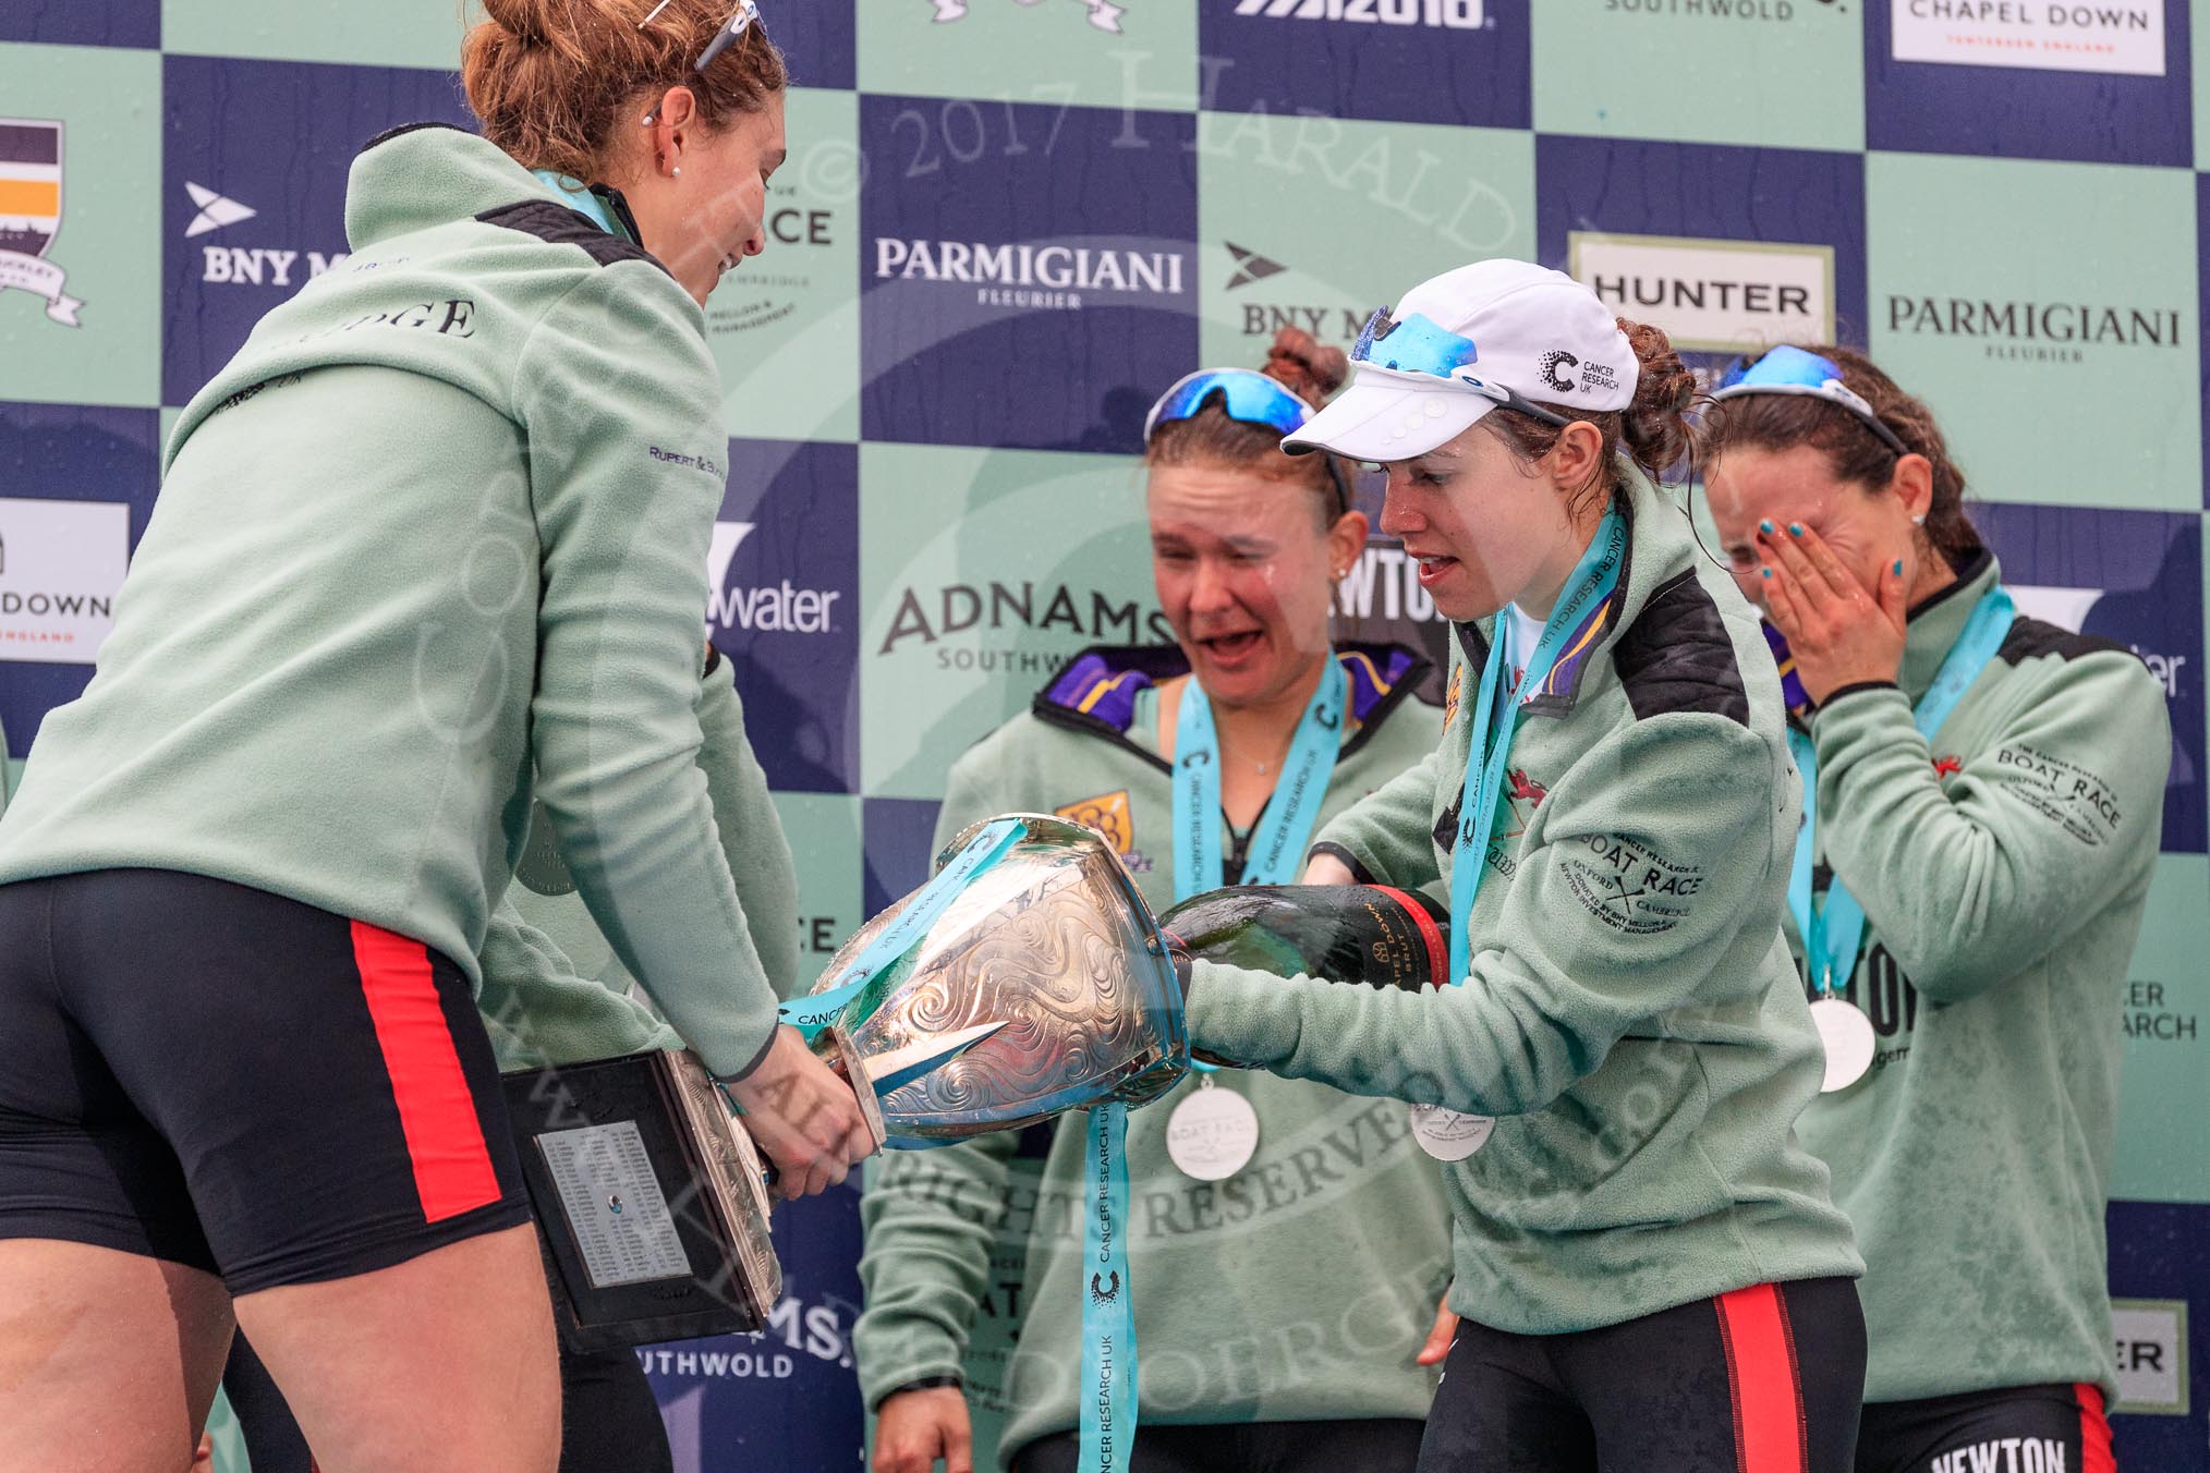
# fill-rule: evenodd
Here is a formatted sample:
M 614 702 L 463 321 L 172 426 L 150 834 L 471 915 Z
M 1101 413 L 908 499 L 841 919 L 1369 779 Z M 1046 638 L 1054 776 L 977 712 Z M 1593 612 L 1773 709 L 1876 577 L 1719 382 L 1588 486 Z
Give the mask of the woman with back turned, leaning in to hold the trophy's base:
M 471 1005 L 533 799 L 785 1186 L 871 1148 L 732 967 L 694 764 L 703 303 L 762 245 L 780 55 L 716 0 L 495 0 L 462 71 L 486 137 L 367 146 L 349 261 L 186 406 L 99 669 L 0 817 L 27 1464 L 181 1466 L 236 1316 L 334 1469 L 552 1469 L 550 1305 Z

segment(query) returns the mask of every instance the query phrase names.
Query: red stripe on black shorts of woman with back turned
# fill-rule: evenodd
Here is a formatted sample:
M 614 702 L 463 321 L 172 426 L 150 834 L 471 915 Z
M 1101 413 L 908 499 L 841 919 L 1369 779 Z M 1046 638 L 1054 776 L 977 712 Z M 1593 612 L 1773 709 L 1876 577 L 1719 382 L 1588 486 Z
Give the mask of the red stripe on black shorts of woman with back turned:
M 444 1221 L 499 1199 L 475 1095 L 460 1069 L 453 1036 L 420 941 L 354 921 L 354 965 L 376 1022 L 376 1047 L 391 1075 L 422 1219 Z

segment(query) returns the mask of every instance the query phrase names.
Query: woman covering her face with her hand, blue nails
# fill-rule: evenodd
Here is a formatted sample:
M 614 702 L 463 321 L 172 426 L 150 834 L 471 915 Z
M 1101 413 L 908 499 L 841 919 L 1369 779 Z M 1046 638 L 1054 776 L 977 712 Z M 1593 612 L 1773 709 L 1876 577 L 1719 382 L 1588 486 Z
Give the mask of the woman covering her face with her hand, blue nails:
M 2119 996 L 2170 718 L 2124 645 L 2016 614 L 1934 415 L 1779 347 L 1702 428 L 1810 822 L 1790 943 L 1839 1020 L 1803 1144 L 1865 1250 L 1863 1473 L 2108 1473 Z M 2009 1466 L 2009 1464 L 2004 1464 Z

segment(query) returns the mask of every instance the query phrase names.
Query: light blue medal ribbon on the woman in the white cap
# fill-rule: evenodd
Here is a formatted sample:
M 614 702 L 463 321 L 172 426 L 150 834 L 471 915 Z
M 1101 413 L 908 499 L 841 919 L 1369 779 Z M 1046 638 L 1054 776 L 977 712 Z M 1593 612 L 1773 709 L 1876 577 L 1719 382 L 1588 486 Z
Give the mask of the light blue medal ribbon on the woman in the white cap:
M 1543 638 L 1527 656 L 1527 671 L 1518 687 L 1505 689 L 1512 680 L 1505 660 L 1505 621 L 1509 610 L 1496 614 L 1496 636 L 1490 640 L 1490 658 L 1481 667 L 1481 696 L 1474 704 L 1474 742 L 1465 762 L 1465 788 L 1459 795 L 1459 839 L 1450 852 L 1450 983 L 1465 983 L 1472 963 L 1472 914 L 1481 894 L 1481 875 L 1490 868 L 1490 835 L 1496 830 L 1496 799 L 1505 786 L 1505 769 L 1512 764 L 1512 738 L 1518 733 L 1518 713 L 1525 698 L 1540 691 L 1558 658 L 1567 654 L 1567 640 L 1587 623 L 1589 614 L 1620 585 L 1620 570 L 1627 565 L 1627 519 L 1604 512 L 1596 528 L 1596 539 L 1574 565 L 1574 576 L 1565 581 L 1558 605 L 1543 623 Z M 1505 702 L 1498 709 L 1498 702 Z

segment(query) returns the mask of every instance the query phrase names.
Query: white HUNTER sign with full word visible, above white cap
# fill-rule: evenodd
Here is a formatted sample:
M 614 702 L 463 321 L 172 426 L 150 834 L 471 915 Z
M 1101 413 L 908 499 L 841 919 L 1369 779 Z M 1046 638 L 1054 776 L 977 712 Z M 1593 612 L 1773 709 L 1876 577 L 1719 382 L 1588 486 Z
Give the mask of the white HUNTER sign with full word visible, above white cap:
M 1673 347 L 1739 353 L 1834 340 L 1834 247 L 1576 230 L 1567 274 Z

